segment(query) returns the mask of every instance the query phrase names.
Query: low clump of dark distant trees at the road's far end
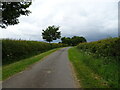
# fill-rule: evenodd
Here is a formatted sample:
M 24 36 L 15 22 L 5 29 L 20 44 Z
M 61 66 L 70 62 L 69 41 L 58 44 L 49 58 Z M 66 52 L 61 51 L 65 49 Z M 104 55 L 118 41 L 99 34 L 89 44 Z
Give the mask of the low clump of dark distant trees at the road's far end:
M 62 37 L 61 41 L 62 41 L 61 43 L 67 44 L 69 46 L 76 46 L 79 43 L 87 42 L 87 40 L 84 37 L 79 37 L 79 36 L 73 36 L 72 38 Z

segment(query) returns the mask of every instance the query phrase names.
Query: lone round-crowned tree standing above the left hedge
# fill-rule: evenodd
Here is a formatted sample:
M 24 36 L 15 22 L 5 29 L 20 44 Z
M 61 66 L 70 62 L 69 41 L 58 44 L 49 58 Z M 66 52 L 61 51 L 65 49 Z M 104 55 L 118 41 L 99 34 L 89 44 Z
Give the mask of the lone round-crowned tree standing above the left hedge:
M 47 42 L 52 42 L 53 40 L 60 39 L 61 32 L 58 32 L 59 27 L 56 26 L 48 26 L 45 30 L 43 30 L 42 37 Z

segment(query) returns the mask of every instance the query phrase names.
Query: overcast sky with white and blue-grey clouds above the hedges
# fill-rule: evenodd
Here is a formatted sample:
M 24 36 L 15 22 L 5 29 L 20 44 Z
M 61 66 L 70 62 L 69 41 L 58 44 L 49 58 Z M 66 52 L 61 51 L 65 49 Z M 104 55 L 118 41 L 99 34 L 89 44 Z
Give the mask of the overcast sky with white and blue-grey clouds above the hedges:
M 29 16 L 18 25 L 0 28 L 0 38 L 40 40 L 47 26 L 60 26 L 62 36 L 88 41 L 118 36 L 119 0 L 33 0 Z

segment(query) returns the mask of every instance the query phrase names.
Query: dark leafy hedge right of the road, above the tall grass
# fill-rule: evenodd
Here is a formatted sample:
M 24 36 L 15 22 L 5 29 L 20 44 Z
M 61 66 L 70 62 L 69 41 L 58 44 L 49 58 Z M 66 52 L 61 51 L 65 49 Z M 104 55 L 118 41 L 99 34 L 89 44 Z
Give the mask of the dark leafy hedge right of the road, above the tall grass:
M 81 43 L 78 49 L 90 52 L 95 56 L 111 57 L 120 61 L 120 38 L 108 38 L 89 43 Z

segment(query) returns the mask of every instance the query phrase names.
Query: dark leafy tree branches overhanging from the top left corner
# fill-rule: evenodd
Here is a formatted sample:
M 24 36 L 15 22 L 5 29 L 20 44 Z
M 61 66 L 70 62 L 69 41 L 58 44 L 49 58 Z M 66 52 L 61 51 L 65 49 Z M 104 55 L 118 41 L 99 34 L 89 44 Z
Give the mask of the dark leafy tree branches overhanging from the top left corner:
M 19 23 L 18 17 L 21 15 L 29 15 L 30 11 L 26 10 L 31 2 L 1 2 L 2 20 L 0 23 L 1 28 L 6 28 L 9 25 Z

